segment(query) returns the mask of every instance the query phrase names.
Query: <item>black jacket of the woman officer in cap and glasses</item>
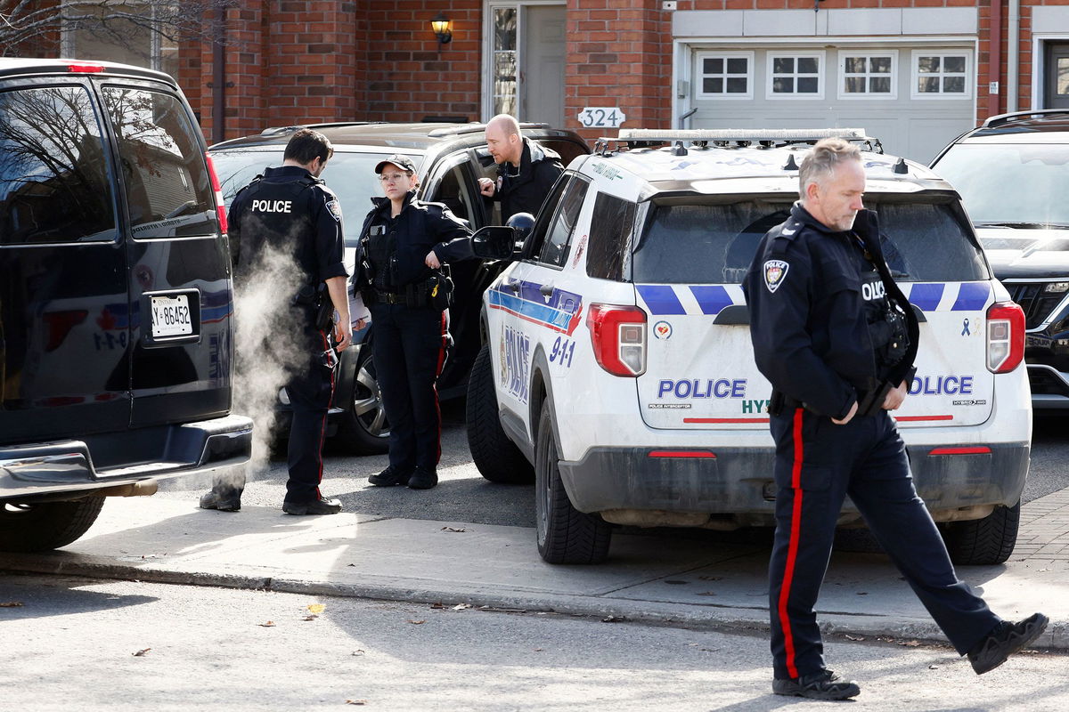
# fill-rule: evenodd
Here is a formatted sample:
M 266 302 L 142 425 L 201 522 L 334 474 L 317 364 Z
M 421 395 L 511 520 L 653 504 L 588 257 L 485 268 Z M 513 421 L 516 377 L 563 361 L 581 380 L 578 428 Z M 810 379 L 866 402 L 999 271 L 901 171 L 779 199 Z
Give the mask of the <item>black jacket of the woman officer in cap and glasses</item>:
M 371 202 L 374 207 L 360 227 L 356 274 L 353 279 L 355 289 L 368 287 L 368 274 L 363 269 L 367 257 L 363 254 L 363 238 L 372 225 L 387 225 L 394 233 L 398 257 L 397 270 L 392 275 L 394 290 L 431 276 L 433 270 L 423 259 L 432 249 L 443 264 L 475 257 L 471 251 L 471 231 L 441 203 L 424 203 L 417 200 L 414 192 L 409 192 L 401 212 L 396 219 L 391 219 L 388 197 L 372 197 Z

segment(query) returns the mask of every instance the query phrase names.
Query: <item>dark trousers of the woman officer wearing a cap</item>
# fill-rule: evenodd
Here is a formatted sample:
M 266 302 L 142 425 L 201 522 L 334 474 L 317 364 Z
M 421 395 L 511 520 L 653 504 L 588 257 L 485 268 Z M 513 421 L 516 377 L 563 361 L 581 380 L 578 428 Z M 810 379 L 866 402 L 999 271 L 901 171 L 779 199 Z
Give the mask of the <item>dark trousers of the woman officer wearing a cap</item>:
M 375 375 L 390 422 L 390 465 L 434 472 L 441 412 L 434 383 L 446 359 L 446 313 L 429 306 L 371 305 Z

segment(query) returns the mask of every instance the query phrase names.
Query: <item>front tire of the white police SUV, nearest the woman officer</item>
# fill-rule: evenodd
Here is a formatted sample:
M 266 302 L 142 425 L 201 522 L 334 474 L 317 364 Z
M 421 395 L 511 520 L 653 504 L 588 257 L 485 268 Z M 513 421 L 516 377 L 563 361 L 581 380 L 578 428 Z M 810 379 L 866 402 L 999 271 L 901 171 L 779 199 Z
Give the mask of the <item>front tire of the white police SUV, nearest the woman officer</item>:
M 531 463 L 501 427 L 489 344 L 479 349 L 471 365 L 465 415 L 468 449 L 479 474 L 492 482 L 505 485 L 530 485 L 534 481 Z

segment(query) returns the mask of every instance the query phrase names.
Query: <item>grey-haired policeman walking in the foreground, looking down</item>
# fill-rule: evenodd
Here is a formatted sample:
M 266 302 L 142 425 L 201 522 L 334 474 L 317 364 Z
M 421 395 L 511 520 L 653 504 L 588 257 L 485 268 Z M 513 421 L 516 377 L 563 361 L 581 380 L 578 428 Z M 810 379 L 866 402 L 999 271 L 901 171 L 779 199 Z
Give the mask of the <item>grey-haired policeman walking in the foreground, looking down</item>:
M 1035 640 L 1047 617 L 1009 623 L 955 573 L 887 411 L 914 373 L 918 328 L 863 209 L 859 149 L 817 143 L 801 201 L 764 236 L 743 289 L 757 366 L 772 382 L 776 533 L 769 567 L 773 692 L 859 694 L 824 666 L 814 606 L 847 494 L 959 654 L 987 673 Z

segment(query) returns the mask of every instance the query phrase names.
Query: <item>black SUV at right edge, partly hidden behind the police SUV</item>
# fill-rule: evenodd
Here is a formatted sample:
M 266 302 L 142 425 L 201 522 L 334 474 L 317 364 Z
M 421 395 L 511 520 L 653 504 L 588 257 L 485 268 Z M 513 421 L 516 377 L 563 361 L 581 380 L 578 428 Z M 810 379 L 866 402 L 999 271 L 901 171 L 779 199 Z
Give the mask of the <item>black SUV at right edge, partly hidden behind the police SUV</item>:
M 931 168 L 965 204 L 988 262 L 1024 308 L 1037 409 L 1069 409 L 1069 111 L 992 116 Z

